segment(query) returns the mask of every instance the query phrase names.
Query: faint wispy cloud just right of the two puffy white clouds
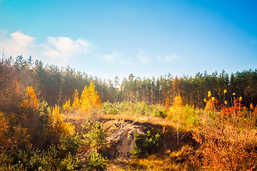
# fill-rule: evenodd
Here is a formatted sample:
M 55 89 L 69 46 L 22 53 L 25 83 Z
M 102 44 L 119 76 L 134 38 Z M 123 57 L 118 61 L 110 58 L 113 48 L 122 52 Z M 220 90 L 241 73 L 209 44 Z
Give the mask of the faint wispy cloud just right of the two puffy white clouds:
M 110 54 L 102 55 L 101 59 L 108 63 L 119 63 L 119 64 L 124 64 L 124 65 L 131 64 L 130 59 L 124 60 L 123 58 L 121 58 L 121 53 L 119 51 L 114 51 Z

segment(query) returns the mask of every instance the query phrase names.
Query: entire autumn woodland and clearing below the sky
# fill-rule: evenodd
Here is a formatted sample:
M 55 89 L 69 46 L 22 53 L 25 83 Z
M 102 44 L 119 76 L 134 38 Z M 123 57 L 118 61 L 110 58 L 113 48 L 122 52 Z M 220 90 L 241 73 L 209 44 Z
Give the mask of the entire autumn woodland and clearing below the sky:
M 5 58 L 0 170 L 255 170 L 256 105 L 257 69 L 106 81 Z

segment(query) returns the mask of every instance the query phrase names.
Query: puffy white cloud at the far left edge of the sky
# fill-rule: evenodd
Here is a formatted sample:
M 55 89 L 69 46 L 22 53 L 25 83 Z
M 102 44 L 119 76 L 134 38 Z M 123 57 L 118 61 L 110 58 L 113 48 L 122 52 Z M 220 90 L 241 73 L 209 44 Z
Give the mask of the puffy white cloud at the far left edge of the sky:
M 9 56 L 29 55 L 29 48 L 35 46 L 36 38 L 25 35 L 19 31 L 11 33 L 11 38 L 5 38 L 0 42 L 0 47 L 4 47 Z

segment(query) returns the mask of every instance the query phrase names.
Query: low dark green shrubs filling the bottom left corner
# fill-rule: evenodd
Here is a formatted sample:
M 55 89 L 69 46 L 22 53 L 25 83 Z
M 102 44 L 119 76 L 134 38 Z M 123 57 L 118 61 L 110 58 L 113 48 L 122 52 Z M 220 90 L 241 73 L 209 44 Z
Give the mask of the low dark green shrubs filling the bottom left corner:
M 0 170 L 78 170 L 81 168 L 79 158 L 69 152 L 63 153 L 51 146 L 49 150 L 15 152 L 1 151 Z

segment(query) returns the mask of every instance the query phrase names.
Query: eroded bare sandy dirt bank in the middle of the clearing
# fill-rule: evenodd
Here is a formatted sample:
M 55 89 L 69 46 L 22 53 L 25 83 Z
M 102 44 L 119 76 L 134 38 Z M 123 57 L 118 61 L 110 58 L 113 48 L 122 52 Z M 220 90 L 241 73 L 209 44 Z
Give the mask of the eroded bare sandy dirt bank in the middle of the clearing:
M 195 143 L 190 132 L 180 133 L 179 143 L 177 145 L 176 131 L 171 127 L 163 127 L 148 123 L 147 121 L 138 122 L 125 119 L 114 118 L 95 118 L 95 120 L 102 123 L 102 127 L 108 136 L 107 148 L 102 152 L 109 160 L 116 162 L 125 162 L 131 159 L 131 150 L 135 144 L 135 133 L 143 134 L 146 130 L 161 130 L 163 133 L 163 150 L 177 150 L 184 144 Z M 81 131 L 81 124 L 85 120 L 69 120 L 76 126 L 76 131 Z M 164 130 L 163 130 L 164 129 Z

